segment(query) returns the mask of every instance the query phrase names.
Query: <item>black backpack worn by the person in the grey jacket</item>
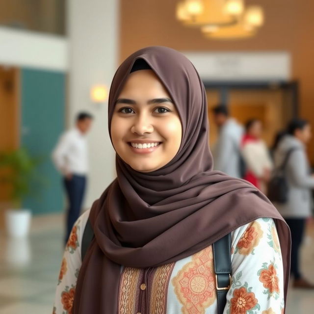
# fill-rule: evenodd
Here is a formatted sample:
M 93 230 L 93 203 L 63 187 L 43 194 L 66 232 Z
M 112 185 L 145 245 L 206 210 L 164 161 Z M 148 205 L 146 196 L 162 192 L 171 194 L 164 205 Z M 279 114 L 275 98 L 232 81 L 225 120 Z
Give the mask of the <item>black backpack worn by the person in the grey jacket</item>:
M 288 182 L 285 174 L 286 165 L 288 163 L 289 156 L 297 148 L 291 148 L 288 150 L 284 162 L 282 165 L 275 169 L 272 178 L 270 179 L 267 187 L 267 197 L 271 202 L 285 204 L 288 201 Z

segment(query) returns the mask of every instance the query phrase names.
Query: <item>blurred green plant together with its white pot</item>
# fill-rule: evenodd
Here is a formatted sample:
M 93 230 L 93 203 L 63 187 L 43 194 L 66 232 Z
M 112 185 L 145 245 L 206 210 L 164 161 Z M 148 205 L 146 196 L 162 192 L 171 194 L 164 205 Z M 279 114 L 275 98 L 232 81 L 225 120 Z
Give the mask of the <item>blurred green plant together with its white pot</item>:
M 31 210 L 21 209 L 22 200 L 32 194 L 29 188 L 31 180 L 38 180 L 36 167 L 38 158 L 31 157 L 26 149 L 0 153 L 0 183 L 10 191 L 12 208 L 5 212 L 6 230 L 10 236 L 25 237 L 28 234 Z

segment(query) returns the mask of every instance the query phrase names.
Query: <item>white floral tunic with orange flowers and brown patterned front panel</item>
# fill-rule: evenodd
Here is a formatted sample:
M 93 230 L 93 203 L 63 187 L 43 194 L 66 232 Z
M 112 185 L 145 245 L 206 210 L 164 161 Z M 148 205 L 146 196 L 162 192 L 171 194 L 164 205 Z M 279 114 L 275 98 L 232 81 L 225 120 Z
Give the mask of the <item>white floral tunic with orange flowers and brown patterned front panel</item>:
M 76 221 L 65 248 L 53 314 L 72 314 L 80 245 L 89 210 Z M 284 274 L 272 218 L 232 233 L 232 279 L 224 314 L 283 314 Z M 216 314 L 212 246 L 180 261 L 146 269 L 121 266 L 119 314 Z

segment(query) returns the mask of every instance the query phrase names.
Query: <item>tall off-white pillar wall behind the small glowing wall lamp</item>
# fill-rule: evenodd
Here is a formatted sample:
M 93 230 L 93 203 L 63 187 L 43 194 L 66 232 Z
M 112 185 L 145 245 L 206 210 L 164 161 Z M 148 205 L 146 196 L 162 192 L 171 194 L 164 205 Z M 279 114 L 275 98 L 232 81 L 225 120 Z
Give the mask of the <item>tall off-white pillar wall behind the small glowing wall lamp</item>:
M 79 110 L 95 116 L 89 134 L 91 170 L 85 207 L 90 207 L 115 178 L 115 155 L 107 131 L 107 103 L 97 106 L 90 87 L 108 88 L 117 68 L 118 0 L 68 0 L 69 81 L 68 124 Z

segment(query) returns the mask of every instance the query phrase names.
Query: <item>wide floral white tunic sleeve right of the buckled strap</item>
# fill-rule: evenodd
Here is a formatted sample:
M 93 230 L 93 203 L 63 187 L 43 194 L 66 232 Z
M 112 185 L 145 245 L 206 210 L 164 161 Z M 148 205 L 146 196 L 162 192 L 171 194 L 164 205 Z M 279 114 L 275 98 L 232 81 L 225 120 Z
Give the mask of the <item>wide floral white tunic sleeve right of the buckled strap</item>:
M 223 313 L 284 313 L 283 262 L 273 219 L 237 228 L 231 252 L 231 288 Z

